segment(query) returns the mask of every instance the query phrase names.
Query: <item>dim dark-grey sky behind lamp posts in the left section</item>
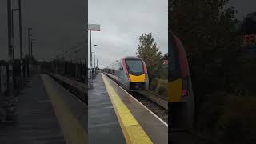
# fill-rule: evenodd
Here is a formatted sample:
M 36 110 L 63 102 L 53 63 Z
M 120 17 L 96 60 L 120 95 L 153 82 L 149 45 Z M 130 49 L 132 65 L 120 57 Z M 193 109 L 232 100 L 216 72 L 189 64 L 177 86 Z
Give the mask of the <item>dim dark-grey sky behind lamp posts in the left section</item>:
M 0 1 L 0 59 L 8 58 L 6 2 Z M 17 8 L 18 0 L 12 2 Z M 23 53 L 28 51 L 28 26 L 33 28 L 33 38 L 36 39 L 33 54 L 39 60 L 53 58 L 76 46 L 77 42 L 85 42 L 86 16 L 85 0 L 22 0 Z M 18 12 L 15 12 L 14 19 L 14 30 L 18 32 Z M 18 44 L 18 34 L 15 34 L 15 58 L 19 58 Z

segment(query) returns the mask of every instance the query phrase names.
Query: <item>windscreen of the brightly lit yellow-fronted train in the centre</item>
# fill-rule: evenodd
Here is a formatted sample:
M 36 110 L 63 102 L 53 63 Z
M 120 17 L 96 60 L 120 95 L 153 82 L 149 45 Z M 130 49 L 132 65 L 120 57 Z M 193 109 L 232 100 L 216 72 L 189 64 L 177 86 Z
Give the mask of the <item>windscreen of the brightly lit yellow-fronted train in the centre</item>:
M 140 75 L 144 73 L 142 61 L 139 59 L 126 59 L 126 66 L 129 74 Z

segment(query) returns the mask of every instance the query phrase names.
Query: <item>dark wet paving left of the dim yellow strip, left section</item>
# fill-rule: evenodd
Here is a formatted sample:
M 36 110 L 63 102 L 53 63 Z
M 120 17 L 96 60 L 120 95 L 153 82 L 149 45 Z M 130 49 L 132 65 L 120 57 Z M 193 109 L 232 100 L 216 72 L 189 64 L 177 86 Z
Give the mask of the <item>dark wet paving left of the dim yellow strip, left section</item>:
M 18 115 L 14 123 L 1 124 L 0 143 L 66 143 L 38 75 L 28 79 L 25 89 L 18 97 Z

